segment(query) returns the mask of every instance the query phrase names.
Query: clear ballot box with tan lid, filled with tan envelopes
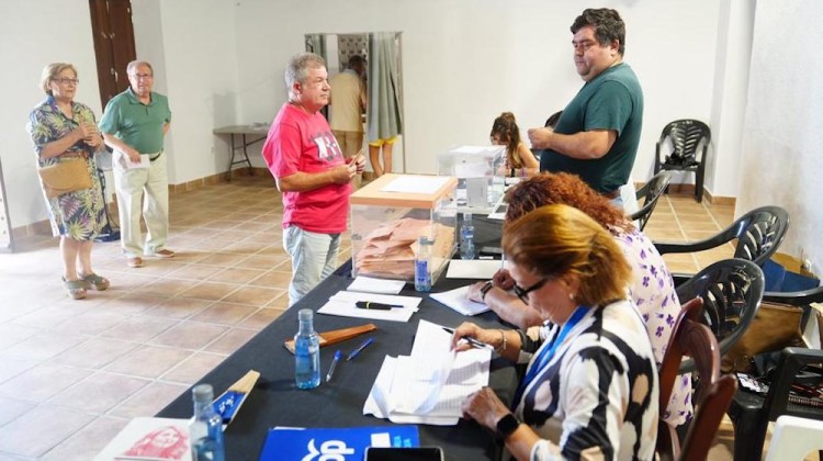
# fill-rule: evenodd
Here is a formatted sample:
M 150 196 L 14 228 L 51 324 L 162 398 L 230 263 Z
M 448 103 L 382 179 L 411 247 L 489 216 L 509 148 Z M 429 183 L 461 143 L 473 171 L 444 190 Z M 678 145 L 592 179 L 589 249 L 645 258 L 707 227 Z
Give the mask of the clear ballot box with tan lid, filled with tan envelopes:
M 454 254 L 458 179 L 383 175 L 351 194 L 352 277 L 414 281 L 417 238 L 433 238 L 431 280 Z

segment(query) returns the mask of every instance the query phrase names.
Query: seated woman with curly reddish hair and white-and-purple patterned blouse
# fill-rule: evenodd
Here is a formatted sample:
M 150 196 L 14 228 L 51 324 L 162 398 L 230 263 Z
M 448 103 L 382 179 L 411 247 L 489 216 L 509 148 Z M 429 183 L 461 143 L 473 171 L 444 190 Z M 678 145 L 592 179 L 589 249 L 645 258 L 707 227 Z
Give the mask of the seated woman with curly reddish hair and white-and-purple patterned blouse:
M 672 274 L 652 240 L 608 199 L 574 175 L 542 173 L 529 178 L 508 191 L 507 201 L 506 223 L 540 206 L 560 203 L 586 213 L 608 231 L 632 268 L 629 296 L 642 314 L 655 361 L 659 366 L 672 337 L 674 321 L 680 312 L 680 301 Z M 504 234 L 506 232 L 504 226 Z M 508 271 L 500 270 L 494 281 L 475 283 L 469 290 L 469 297 L 487 304 L 500 318 L 518 328 L 541 325 L 541 315 L 510 292 L 511 284 Z M 663 419 L 676 427 L 684 424 L 691 413 L 691 380 L 689 375 L 684 375 L 675 385 Z

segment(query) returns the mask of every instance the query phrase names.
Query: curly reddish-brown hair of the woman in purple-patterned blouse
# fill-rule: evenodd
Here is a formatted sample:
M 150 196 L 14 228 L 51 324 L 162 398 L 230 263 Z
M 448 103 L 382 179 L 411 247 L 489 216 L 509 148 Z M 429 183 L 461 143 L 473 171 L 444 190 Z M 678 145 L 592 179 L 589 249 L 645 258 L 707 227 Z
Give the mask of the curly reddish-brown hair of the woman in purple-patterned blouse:
M 634 225 L 625 218 L 622 211 L 589 188 L 577 175 L 543 172 L 531 177 L 509 189 L 506 192 L 506 224 L 541 206 L 556 203 L 574 206 L 607 231 L 634 229 Z

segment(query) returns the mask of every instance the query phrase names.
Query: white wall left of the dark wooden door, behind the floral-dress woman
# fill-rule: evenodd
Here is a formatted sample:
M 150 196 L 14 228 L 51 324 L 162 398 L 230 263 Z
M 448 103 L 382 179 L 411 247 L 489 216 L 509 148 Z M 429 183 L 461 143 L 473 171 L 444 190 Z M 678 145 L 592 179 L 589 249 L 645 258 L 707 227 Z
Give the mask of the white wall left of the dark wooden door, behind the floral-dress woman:
M 71 63 L 80 85 L 77 101 L 100 119 L 94 43 L 87 0 L 0 2 L 0 161 L 12 227 L 47 218 L 37 180 L 36 156 L 25 131 L 29 113 L 46 94 L 40 88 L 49 63 Z

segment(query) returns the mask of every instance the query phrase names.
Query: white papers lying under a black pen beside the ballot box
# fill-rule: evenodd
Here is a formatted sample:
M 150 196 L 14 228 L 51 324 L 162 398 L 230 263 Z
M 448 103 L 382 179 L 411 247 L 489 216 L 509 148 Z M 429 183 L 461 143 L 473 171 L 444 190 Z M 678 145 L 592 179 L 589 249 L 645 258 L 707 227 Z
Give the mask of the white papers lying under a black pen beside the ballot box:
M 388 311 L 357 307 L 358 301 L 399 305 Z M 338 291 L 317 313 L 338 315 L 340 317 L 372 318 L 375 321 L 408 322 L 417 312 L 422 299 L 416 296 L 398 296 L 388 294 L 359 293 L 354 291 Z

